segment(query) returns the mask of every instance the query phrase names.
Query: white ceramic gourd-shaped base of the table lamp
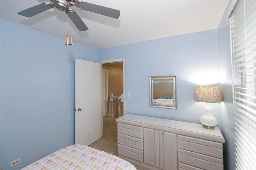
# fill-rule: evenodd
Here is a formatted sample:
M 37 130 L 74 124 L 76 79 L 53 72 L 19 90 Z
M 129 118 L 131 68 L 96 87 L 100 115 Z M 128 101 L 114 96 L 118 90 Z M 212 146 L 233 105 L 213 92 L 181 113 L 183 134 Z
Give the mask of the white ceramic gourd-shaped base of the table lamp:
M 209 103 L 205 104 L 204 107 L 204 115 L 200 117 L 200 122 L 204 125 L 207 129 L 214 129 L 217 125 L 218 120 L 216 117 L 212 115 L 212 108 Z

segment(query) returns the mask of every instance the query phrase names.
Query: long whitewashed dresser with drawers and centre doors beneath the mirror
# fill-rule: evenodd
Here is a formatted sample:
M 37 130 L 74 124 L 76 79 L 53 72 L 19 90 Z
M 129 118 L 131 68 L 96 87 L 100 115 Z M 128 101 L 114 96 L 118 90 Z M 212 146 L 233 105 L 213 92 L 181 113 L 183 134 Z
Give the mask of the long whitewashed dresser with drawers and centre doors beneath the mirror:
M 218 127 L 132 114 L 116 121 L 120 158 L 153 170 L 223 170 Z

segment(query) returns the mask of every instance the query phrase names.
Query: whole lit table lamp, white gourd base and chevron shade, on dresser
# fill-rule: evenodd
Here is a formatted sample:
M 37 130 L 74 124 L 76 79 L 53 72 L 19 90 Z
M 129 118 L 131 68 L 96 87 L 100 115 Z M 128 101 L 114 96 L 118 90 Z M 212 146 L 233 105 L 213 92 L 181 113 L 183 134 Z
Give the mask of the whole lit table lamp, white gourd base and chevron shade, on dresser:
M 222 102 L 220 85 L 197 85 L 195 86 L 196 102 L 205 102 L 204 115 L 200 117 L 200 122 L 204 128 L 214 129 L 218 120 L 212 115 L 210 103 Z

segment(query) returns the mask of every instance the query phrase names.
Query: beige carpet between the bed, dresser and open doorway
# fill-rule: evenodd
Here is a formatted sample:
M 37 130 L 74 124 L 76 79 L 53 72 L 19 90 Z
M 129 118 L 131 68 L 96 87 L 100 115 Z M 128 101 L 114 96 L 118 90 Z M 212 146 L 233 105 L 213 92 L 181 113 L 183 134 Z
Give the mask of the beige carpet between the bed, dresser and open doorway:
M 99 150 L 114 154 L 117 156 L 117 122 L 116 117 L 103 117 L 103 137 L 89 145 Z M 132 163 L 137 170 L 150 170 L 138 164 Z

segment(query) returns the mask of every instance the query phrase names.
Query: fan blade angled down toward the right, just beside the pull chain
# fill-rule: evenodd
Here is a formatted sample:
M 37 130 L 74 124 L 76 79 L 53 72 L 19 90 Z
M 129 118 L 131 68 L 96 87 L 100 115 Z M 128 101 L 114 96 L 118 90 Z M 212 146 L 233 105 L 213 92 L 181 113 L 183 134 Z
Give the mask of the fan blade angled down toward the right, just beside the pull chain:
M 66 14 L 70 18 L 70 20 L 76 25 L 79 31 L 88 30 L 88 27 L 86 27 L 82 19 L 78 16 L 78 14 L 74 10 L 68 9 L 66 10 Z

